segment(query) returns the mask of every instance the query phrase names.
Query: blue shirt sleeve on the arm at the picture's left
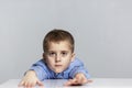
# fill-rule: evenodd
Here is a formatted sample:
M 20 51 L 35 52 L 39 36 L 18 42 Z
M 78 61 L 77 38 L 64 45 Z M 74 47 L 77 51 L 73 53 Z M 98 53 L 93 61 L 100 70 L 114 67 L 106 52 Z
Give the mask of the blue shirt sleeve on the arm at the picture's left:
M 44 80 L 44 79 L 47 78 L 46 66 L 43 63 L 43 59 L 41 59 L 41 61 L 36 62 L 35 64 L 33 64 L 31 66 L 30 70 L 34 70 L 40 80 Z

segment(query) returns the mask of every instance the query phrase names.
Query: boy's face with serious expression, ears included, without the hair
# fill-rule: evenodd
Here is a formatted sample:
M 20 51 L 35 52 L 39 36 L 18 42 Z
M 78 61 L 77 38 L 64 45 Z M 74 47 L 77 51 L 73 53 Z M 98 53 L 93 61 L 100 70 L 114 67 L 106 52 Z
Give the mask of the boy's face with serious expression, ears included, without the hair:
M 47 66 L 55 73 L 64 72 L 75 58 L 75 54 L 72 53 L 69 46 L 69 42 L 67 41 L 51 42 L 48 52 L 44 53 Z

